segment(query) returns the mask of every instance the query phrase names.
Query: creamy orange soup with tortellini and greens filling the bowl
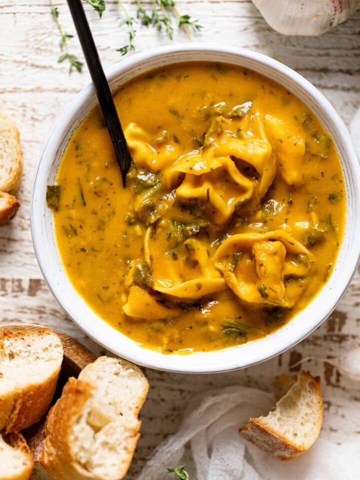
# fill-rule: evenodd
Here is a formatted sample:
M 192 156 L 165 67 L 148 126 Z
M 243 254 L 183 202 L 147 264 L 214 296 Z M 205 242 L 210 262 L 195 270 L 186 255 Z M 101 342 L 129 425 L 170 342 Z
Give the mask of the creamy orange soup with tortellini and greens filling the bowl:
M 164 352 L 263 337 L 326 282 L 345 220 L 333 141 L 295 96 L 247 69 L 166 66 L 114 94 L 133 156 L 123 189 L 99 109 L 48 187 L 84 301 Z

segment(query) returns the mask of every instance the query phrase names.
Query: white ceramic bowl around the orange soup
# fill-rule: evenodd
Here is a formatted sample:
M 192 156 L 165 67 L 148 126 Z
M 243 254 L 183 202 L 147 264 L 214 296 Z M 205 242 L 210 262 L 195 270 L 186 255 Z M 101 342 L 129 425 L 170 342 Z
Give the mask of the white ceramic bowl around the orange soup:
M 162 354 L 142 348 L 114 330 L 89 308 L 69 282 L 56 248 L 53 219 L 46 207 L 46 185 L 54 182 L 65 146 L 79 122 L 95 105 L 92 85 L 82 90 L 54 126 L 36 171 L 31 200 L 31 233 L 35 253 L 55 298 L 93 340 L 137 364 L 178 372 L 215 372 L 243 368 L 290 348 L 311 333 L 333 310 L 356 269 L 360 254 L 360 168 L 350 135 L 326 98 L 295 71 L 249 50 L 209 44 L 171 45 L 122 60 L 107 71 L 111 89 L 152 68 L 169 63 L 209 60 L 255 70 L 299 97 L 332 135 L 341 159 L 347 191 L 347 217 L 340 252 L 325 286 L 311 303 L 276 332 L 256 341 L 212 352 Z

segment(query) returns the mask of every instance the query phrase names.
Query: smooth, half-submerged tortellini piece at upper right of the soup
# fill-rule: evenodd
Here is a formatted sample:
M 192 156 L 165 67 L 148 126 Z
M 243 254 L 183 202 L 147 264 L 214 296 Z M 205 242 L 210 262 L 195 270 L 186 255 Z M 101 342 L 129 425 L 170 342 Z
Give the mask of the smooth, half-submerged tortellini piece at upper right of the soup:
M 271 115 L 265 116 L 265 124 L 282 178 L 288 185 L 301 185 L 305 141 L 299 127 Z

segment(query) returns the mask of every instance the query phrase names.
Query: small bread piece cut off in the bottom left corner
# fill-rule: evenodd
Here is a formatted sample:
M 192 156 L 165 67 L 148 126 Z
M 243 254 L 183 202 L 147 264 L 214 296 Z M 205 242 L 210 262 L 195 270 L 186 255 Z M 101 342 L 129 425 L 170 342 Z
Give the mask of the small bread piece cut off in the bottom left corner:
M 32 468 L 31 452 L 21 433 L 0 435 L 0 480 L 28 480 Z

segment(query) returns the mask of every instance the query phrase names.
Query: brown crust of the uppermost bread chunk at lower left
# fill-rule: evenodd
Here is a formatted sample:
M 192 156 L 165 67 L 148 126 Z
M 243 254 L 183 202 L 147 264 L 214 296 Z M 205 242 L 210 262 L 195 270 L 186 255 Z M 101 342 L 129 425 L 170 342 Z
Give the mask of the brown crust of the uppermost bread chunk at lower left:
M 6 351 L 5 342 L 11 342 L 15 347 L 18 339 L 49 334 L 55 336 L 50 328 L 45 327 L 34 326 L 22 332 L 0 328 L 0 353 L 5 356 L 12 354 L 12 351 Z M 5 429 L 5 433 L 18 432 L 41 419 L 50 406 L 60 367 L 61 362 L 43 382 L 28 383 L 21 388 L 14 383 L 10 391 L 2 393 L 0 390 L 0 430 Z

